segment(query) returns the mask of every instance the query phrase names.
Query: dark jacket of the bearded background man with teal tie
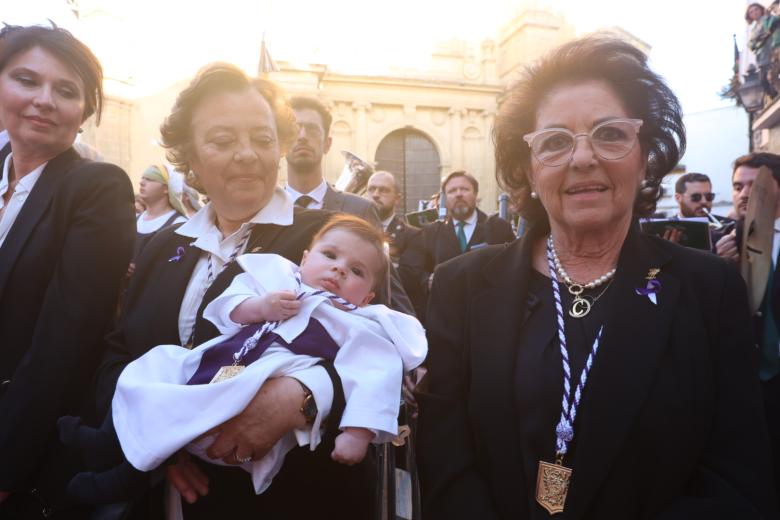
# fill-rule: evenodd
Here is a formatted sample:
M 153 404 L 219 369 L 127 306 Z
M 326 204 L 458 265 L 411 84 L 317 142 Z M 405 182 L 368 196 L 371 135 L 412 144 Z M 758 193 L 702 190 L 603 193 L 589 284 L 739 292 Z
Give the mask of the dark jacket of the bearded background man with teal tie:
M 515 239 L 512 226 L 497 215 L 487 216 L 477 209 L 477 224 L 466 247 L 466 252 L 488 244 L 503 244 Z M 452 219 L 437 220 L 421 228 L 412 236 L 401 256 L 398 271 L 404 289 L 414 305 L 417 316 L 424 322 L 428 304 L 428 278 L 436 266 L 460 256 L 461 250 Z

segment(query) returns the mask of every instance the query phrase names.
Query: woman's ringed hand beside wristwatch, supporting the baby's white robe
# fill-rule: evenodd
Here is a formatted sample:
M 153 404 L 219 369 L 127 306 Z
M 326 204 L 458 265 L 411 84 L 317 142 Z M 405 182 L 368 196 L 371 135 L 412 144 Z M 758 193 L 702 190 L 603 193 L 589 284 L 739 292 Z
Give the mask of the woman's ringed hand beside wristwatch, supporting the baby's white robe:
M 227 464 L 263 458 L 284 434 L 306 427 L 301 413 L 303 397 L 303 388 L 296 379 L 269 379 L 243 412 L 215 428 L 217 438 L 206 453 Z

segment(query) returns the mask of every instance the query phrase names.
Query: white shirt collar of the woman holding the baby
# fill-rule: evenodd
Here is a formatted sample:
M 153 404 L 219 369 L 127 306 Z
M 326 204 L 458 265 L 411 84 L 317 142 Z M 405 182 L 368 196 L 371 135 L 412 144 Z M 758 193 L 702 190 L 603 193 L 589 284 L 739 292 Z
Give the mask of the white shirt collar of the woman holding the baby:
M 223 237 L 216 224 L 216 213 L 211 202 L 203 206 L 187 222 L 176 230 L 185 237 L 194 238 L 192 245 L 215 255 L 221 254 L 220 244 L 234 236 L 243 236 L 250 224 L 276 224 L 289 226 L 293 223 L 293 200 L 282 188 L 275 187 L 271 200 L 254 217 L 244 222 L 229 237 Z

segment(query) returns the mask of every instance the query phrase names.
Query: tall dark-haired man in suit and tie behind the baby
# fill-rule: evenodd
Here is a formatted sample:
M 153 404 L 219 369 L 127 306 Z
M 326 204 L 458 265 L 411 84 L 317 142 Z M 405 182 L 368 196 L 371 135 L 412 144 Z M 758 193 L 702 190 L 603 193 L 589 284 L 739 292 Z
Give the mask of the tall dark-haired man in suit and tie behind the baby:
M 349 213 L 361 217 L 379 226 L 376 206 L 370 201 L 336 191 L 325 181 L 322 171 L 322 157 L 328 150 L 332 139 L 330 124 L 333 118 L 327 107 L 315 98 L 298 96 L 290 100 L 298 123 L 298 137 L 285 157 L 287 159 L 287 184 L 295 205 L 307 209 L 324 209 L 333 212 Z M 380 291 L 379 301 L 387 301 Z M 413 314 L 409 297 L 404 292 L 398 272 L 390 270 L 390 307 Z

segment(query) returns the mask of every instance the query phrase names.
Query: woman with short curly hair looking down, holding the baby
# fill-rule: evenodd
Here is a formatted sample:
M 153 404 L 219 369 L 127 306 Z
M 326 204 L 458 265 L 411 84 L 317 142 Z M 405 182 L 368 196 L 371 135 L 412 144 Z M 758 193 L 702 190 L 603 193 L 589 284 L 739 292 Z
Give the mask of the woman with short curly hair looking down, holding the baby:
M 192 348 L 219 335 L 203 309 L 241 272 L 234 262 L 239 254 L 275 253 L 300 263 L 328 214 L 295 207 L 277 185 L 279 160 L 297 135 L 294 117 L 276 85 L 229 64 L 204 67 L 179 94 L 160 129 L 162 143 L 168 160 L 187 172 L 187 183 L 209 203 L 186 223 L 159 231 L 139 256 L 99 371 L 104 412 L 127 363 L 157 345 Z M 330 459 L 343 407 L 332 362 L 296 378 L 269 380 L 241 414 L 218 428 L 207 450 L 231 466 L 208 464 L 186 452 L 168 465 L 168 483 L 183 498 L 173 505 L 181 502 L 187 520 L 370 517 L 373 488 L 366 466 Z M 317 450 L 291 451 L 273 485 L 256 495 L 250 475 L 238 465 L 261 459 L 282 435 L 322 417 L 329 418 L 328 429 Z M 105 462 L 92 469 L 115 464 Z M 129 488 L 120 485 L 125 496 L 110 496 L 106 475 L 93 477 L 77 477 L 71 494 L 90 503 L 128 498 Z M 131 513 L 139 519 L 162 514 L 162 501 L 154 494 L 136 500 Z

